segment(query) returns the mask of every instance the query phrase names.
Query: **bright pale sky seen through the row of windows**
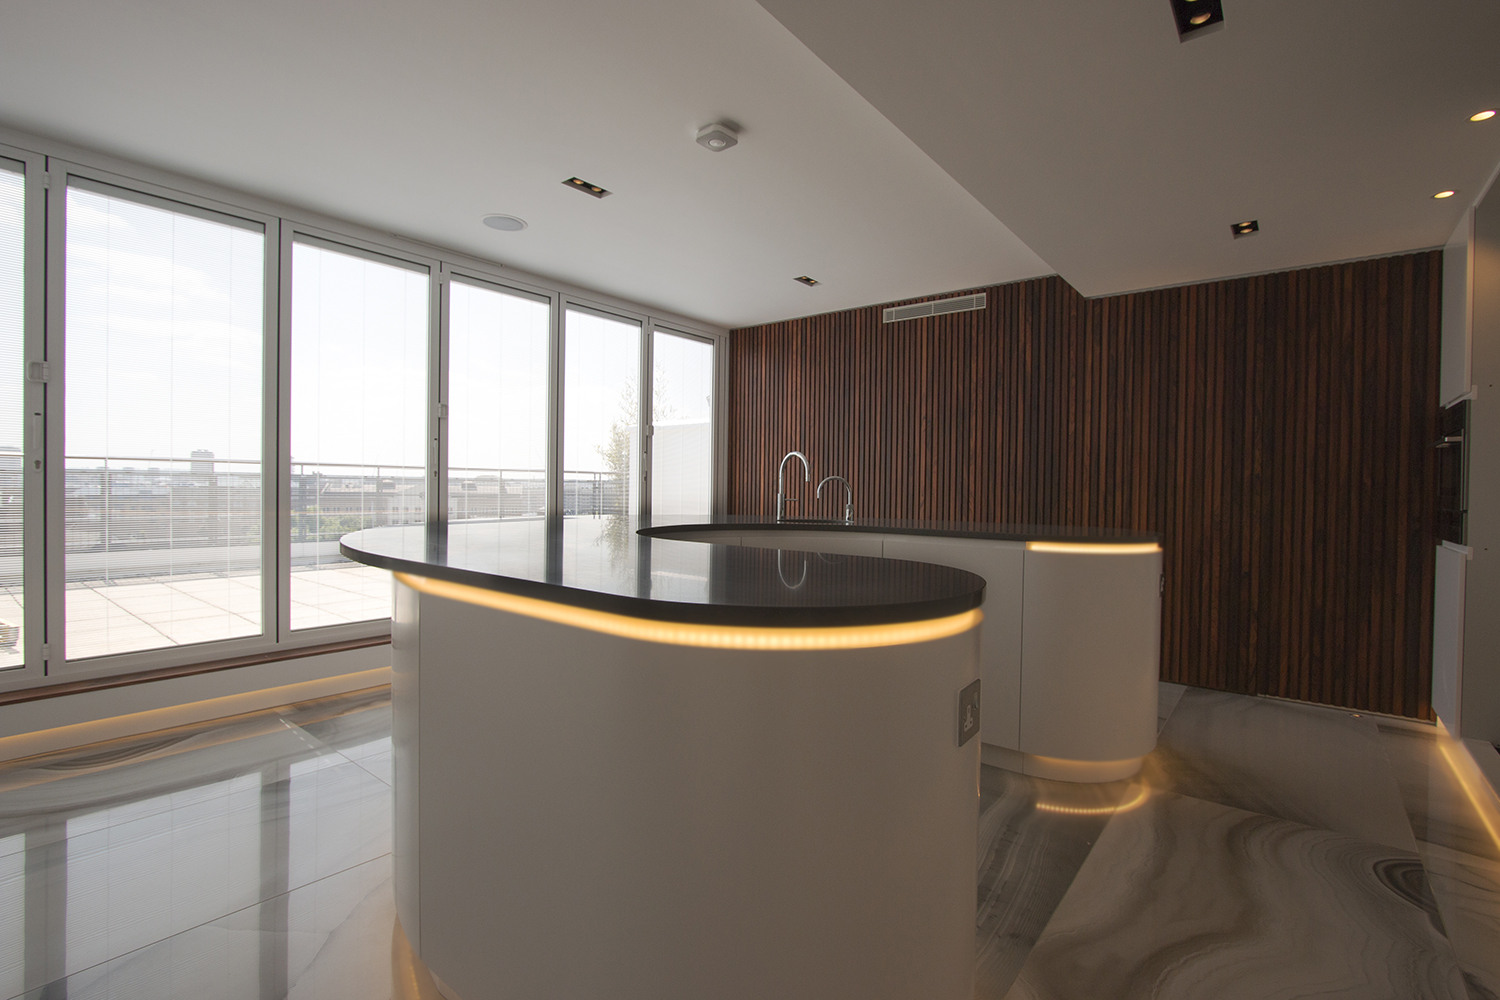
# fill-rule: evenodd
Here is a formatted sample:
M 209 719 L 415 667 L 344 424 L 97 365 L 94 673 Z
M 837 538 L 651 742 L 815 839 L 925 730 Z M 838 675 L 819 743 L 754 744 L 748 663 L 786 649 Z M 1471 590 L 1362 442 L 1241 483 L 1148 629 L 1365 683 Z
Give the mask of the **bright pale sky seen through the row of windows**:
M 20 445 L 21 183 L 0 171 L 0 445 Z M 258 226 L 68 190 L 66 453 L 146 466 L 194 451 L 261 456 L 266 237 Z M 426 271 L 292 249 L 296 463 L 417 466 L 426 453 Z M 540 469 L 548 303 L 450 282 L 450 465 Z M 706 415 L 711 349 L 657 334 L 658 420 Z M 6 351 L 10 352 L 9 363 Z M 632 421 L 638 324 L 568 310 L 564 468 L 603 469 Z M 138 459 L 138 460 L 136 460 Z

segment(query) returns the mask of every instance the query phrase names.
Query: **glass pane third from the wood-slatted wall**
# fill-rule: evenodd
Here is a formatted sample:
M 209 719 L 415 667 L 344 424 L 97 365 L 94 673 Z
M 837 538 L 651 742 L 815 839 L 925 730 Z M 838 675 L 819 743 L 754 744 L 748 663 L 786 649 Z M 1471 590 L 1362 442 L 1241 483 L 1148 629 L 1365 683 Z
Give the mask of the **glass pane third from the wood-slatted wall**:
M 546 513 L 550 306 L 448 282 L 448 517 Z

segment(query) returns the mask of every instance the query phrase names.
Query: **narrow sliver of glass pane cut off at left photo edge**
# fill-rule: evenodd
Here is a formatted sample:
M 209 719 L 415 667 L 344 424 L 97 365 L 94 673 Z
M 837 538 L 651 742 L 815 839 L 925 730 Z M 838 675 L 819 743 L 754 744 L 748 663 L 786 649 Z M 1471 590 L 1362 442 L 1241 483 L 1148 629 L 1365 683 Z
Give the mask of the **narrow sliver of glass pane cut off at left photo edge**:
M 21 462 L 26 441 L 26 178 L 0 162 L 0 670 L 26 649 Z

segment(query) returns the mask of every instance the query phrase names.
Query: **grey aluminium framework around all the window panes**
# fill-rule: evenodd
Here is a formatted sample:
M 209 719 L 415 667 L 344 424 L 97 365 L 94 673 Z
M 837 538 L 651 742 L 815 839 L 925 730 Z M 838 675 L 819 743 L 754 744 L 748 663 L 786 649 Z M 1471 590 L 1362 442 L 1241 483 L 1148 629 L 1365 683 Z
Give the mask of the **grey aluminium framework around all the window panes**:
M 728 345 L 729 330 L 704 324 L 700 321 L 681 316 L 668 310 L 658 310 L 616 298 L 608 292 L 600 292 L 570 282 L 543 277 L 510 267 L 507 264 L 486 259 L 474 253 L 438 246 L 410 237 L 382 232 L 370 226 L 363 226 L 345 219 L 291 205 L 261 195 L 252 195 L 244 189 L 228 187 L 212 181 L 200 180 L 174 171 L 147 166 L 135 160 L 100 153 L 98 150 L 42 138 L 21 132 L 8 126 L 0 126 L 0 157 L 22 163 L 26 166 L 26 352 L 27 366 L 32 361 L 44 361 L 52 366 L 51 382 L 33 382 L 27 379 L 24 396 L 27 412 L 44 414 L 44 447 L 42 453 L 28 454 L 27 462 L 38 457 L 44 460 L 42 469 L 32 469 L 33 483 L 27 484 L 26 493 L 26 525 L 24 555 L 26 555 L 26 592 L 42 594 L 42 600 L 28 600 L 26 610 L 26 663 L 22 666 L 0 670 L 0 691 L 46 687 L 90 678 L 135 673 L 160 667 L 192 666 L 219 660 L 230 660 L 240 655 L 280 654 L 297 649 L 310 649 L 322 643 L 380 637 L 390 633 L 390 621 L 378 619 L 372 622 L 356 622 L 348 625 L 328 625 L 309 630 L 290 630 L 290 615 L 284 613 L 284 594 L 290 591 L 290 577 L 284 556 L 280 537 L 285 532 L 290 546 L 290 517 L 282 516 L 280 505 L 290 504 L 290 496 L 282 492 L 282 460 L 286 447 L 282 435 L 290 424 L 282 418 L 282 400 L 288 399 L 284 385 L 282 361 L 290 363 L 290 354 L 282 348 L 285 334 L 290 331 L 290 318 L 282 315 L 284 286 L 282 271 L 290 267 L 280 247 L 288 231 L 302 232 L 309 237 L 320 237 L 336 244 L 330 249 L 345 250 L 346 247 L 363 247 L 378 258 L 422 259 L 434 267 L 429 276 L 429 309 L 436 316 L 429 321 L 429 438 L 435 439 L 438 471 L 438 490 L 429 490 L 429 517 L 444 520 L 447 516 L 447 477 L 441 471 L 447 468 L 446 454 L 446 420 L 442 406 L 447 403 L 447 325 L 446 300 L 447 289 L 442 285 L 446 276 L 476 279 L 489 282 L 502 291 L 518 291 L 522 294 L 540 295 L 550 304 L 550 357 L 549 357 L 549 411 L 548 411 L 548 460 L 550 463 L 548 475 L 548 511 L 561 510 L 561 429 L 562 429 L 562 324 L 568 304 L 584 310 L 600 312 L 609 318 L 639 319 L 642 324 L 642 384 L 650 384 L 650 337 L 656 324 L 686 333 L 688 336 L 711 339 L 716 342 L 716 364 L 720 376 L 720 399 L 728 399 Z M 126 196 L 160 198 L 170 202 L 168 207 L 196 207 L 216 216 L 232 219 L 260 220 L 266 219 L 267 247 L 267 286 L 272 297 L 262 319 L 267 324 L 266 354 L 262 360 L 261 385 L 268 399 L 266 424 L 262 426 L 262 454 L 267 447 L 274 448 L 276 477 L 270 477 L 262 465 L 262 483 L 274 480 L 276 489 L 262 487 L 262 504 L 274 507 L 262 517 L 261 544 L 270 544 L 272 556 L 262 555 L 262 633 L 238 639 L 214 640 L 207 643 L 192 643 L 183 646 L 160 646 L 156 649 L 112 654 L 105 657 L 90 657 L 64 663 L 60 645 L 50 640 L 60 640 L 63 630 L 62 598 L 57 597 L 64 586 L 62 576 L 63 553 L 63 493 L 62 493 L 62 435 L 64 423 L 62 420 L 60 400 L 62 387 L 54 393 L 54 382 L 63 376 L 62 358 L 50 357 L 51 334 L 56 327 L 62 330 L 63 313 L 60 286 L 66 270 L 60 270 L 62 241 L 52 240 L 52 210 L 58 201 L 66 199 L 66 187 L 60 184 L 54 171 L 68 169 L 80 177 L 90 177 L 99 183 L 110 184 L 122 190 Z M 57 195 L 54 199 L 52 196 Z M 476 240 L 477 241 L 477 240 Z M 51 246 L 56 243 L 57 246 Z M 56 288 L 54 288 L 56 286 Z M 434 346 L 435 345 L 435 346 Z M 646 394 L 642 393 L 642 399 Z M 34 408 L 33 408 L 34 400 Z M 714 420 L 718 424 L 720 442 L 716 447 L 714 475 L 716 495 L 714 511 L 722 513 L 726 502 L 728 483 L 728 450 L 723 447 L 724 438 L 724 408 L 714 408 Z M 646 415 L 646 414 L 644 414 Z M 642 427 L 648 423 L 642 421 Z M 642 435 L 650 439 L 648 435 Z M 429 450 L 430 454 L 430 450 Z M 56 460 L 50 460 L 56 456 Z M 264 459 L 262 459 L 264 460 Z M 430 459 L 429 459 L 430 460 Z M 642 462 L 642 471 L 650 468 L 650 456 Z M 429 468 L 429 472 L 432 469 Z M 286 465 L 290 481 L 290 463 Z M 56 486 L 54 486 L 56 480 Z M 638 483 L 640 496 L 650 502 L 650 481 Z M 38 496 L 33 504 L 33 493 Z M 436 504 L 441 508 L 434 510 Z M 48 534 L 48 532 L 52 534 Z M 290 547 L 286 549 L 290 558 Z M 270 561 L 274 559 L 274 561 Z M 274 615 L 267 615 L 266 601 L 274 594 Z M 290 610 L 290 598 L 286 600 Z M 254 669 L 254 667 L 252 667 Z

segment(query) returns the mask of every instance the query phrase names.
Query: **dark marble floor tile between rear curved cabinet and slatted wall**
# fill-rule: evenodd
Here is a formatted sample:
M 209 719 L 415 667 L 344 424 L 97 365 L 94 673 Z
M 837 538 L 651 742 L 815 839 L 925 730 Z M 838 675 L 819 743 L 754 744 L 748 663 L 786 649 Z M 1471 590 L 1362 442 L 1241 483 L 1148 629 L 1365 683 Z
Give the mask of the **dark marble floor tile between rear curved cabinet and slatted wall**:
M 1152 789 L 1416 850 L 1368 715 L 1190 688 L 1143 777 Z

